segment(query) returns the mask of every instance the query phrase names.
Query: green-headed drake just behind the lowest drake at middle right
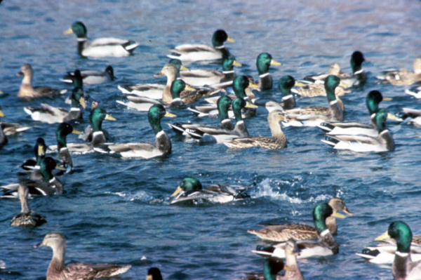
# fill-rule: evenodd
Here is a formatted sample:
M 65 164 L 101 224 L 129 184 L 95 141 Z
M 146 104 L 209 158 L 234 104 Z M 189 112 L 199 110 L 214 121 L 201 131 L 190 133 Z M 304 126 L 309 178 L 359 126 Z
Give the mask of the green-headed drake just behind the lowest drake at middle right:
M 322 131 L 328 135 L 369 135 L 376 137 L 378 135 L 377 125 L 375 122 L 375 115 L 379 111 L 379 104 L 382 100 L 392 100 L 391 98 L 384 98 L 380 91 L 370 91 L 366 96 L 366 106 L 370 113 L 370 120 L 368 124 L 361 124 L 354 121 L 336 122 L 329 121 L 319 124 Z M 390 114 L 387 115 L 389 119 L 396 119 Z

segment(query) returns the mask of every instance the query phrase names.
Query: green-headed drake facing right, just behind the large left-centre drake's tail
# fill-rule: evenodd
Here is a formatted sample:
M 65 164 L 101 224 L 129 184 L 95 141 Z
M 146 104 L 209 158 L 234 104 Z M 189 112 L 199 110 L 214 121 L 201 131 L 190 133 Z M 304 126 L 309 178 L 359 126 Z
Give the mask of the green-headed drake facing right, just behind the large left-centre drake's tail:
M 94 147 L 99 147 L 103 143 L 107 142 L 105 131 L 102 129 L 102 121 L 107 119 L 108 121 L 116 121 L 114 117 L 107 114 L 105 109 L 101 107 L 95 107 L 91 115 L 89 116 L 89 122 L 91 123 L 90 128 L 86 128 L 84 133 L 88 143 L 67 143 L 67 149 L 69 152 L 86 153 L 93 152 Z M 57 150 L 57 146 L 50 146 L 50 149 Z

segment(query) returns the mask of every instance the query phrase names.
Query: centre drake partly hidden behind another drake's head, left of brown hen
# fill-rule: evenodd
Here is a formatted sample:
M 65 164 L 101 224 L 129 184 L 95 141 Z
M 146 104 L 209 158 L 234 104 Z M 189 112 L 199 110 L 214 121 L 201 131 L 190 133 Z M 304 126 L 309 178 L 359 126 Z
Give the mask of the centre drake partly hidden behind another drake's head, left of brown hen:
M 176 133 L 182 133 L 183 135 L 189 135 L 186 131 L 196 131 L 196 130 L 205 130 L 205 129 L 222 129 L 227 131 L 232 131 L 234 129 L 234 124 L 232 124 L 231 119 L 228 117 L 228 108 L 232 105 L 232 100 L 228 96 L 222 96 L 218 99 L 218 116 L 220 118 L 220 126 L 209 126 L 206 124 L 168 124 L 173 131 Z

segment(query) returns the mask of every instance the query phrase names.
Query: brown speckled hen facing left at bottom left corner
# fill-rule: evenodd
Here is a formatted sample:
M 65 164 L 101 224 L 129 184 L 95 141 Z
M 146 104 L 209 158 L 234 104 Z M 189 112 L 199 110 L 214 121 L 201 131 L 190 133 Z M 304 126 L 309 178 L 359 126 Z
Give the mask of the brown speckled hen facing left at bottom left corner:
M 66 238 L 61 232 L 50 232 L 44 240 L 34 245 L 34 248 L 48 246 L 53 249 L 53 258 L 47 270 L 47 280 L 91 280 L 102 277 L 112 277 L 131 268 L 131 265 L 114 265 L 109 263 L 90 264 L 72 262 L 65 265 Z

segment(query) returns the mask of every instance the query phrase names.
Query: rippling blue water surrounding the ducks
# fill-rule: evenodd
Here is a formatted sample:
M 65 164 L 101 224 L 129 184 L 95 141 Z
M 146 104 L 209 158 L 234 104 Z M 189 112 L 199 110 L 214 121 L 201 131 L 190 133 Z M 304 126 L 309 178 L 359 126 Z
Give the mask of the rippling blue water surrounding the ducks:
M 226 29 L 236 43 L 230 51 L 243 63 L 237 72 L 257 78 L 255 58 L 267 51 L 283 63 L 271 70 L 274 80 L 290 74 L 325 72 L 331 62 L 350 71 L 349 56 L 360 50 L 370 62 L 368 83 L 344 99 L 346 119 L 368 121 L 364 100 L 370 90 L 394 98 L 382 102 L 392 113 L 401 107 L 420 108 L 402 87 L 375 84 L 382 69 L 412 69 L 420 55 L 420 1 L 8 1 L 0 5 L 0 104 L 4 121 L 34 126 L 1 149 L 0 183 L 15 182 L 17 166 L 32 156 L 36 138 L 55 144 L 55 125 L 33 122 L 22 107 L 64 98 L 25 101 L 16 98 L 23 63 L 34 68 L 34 85 L 69 88 L 59 81 L 66 71 L 114 67 L 117 80 L 86 86 L 91 97 L 118 121 L 104 127 L 117 142 L 153 140 L 146 114 L 123 109 L 118 84 L 165 83 L 154 78 L 167 62 L 168 48 L 186 42 L 210 44 L 215 29 Z M 88 36 L 134 39 L 141 46 L 129 58 L 81 59 L 74 36 L 62 35 L 76 20 Z M 200 65 L 188 65 L 201 67 Z M 209 66 L 208 66 L 209 67 Z M 216 66 L 215 66 L 216 67 Z M 269 91 L 264 96 L 279 97 Z M 300 105 L 326 105 L 324 98 Z M 178 121 L 203 121 L 173 110 Z M 87 115 L 87 114 L 86 114 Z M 165 122 L 166 120 L 164 120 Z M 172 121 L 172 120 L 170 120 Z M 266 115 L 246 121 L 251 135 L 269 135 Z M 81 130 L 86 120 L 76 126 Z M 20 211 L 17 201 L 1 201 L 0 279 L 45 279 L 49 248 L 34 249 L 44 234 L 59 230 L 67 236 L 67 261 L 119 262 L 133 267 L 121 279 L 144 279 L 147 269 L 161 268 L 164 279 L 239 279 L 258 271 L 262 258 L 250 251 L 262 244 L 247 229 L 267 222 L 312 223 L 311 212 L 333 196 L 345 199 L 352 218 L 339 221 L 340 253 L 301 262 L 306 279 L 391 279 L 390 269 L 364 263 L 354 255 L 389 222 L 405 220 L 420 232 L 420 131 L 388 123 L 396 150 L 385 154 L 335 152 L 315 128 L 285 128 L 288 148 L 281 151 L 232 151 L 222 145 L 185 143 L 166 126 L 173 154 L 163 159 L 116 159 L 103 154 L 73 156 L 76 172 L 65 175 L 65 194 L 37 198 L 32 208 L 46 225 L 33 230 L 9 227 Z M 68 137 L 75 142 L 74 135 Z M 249 185 L 252 199 L 226 205 L 169 206 L 166 201 L 187 175 L 203 185 L 233 182 Z

